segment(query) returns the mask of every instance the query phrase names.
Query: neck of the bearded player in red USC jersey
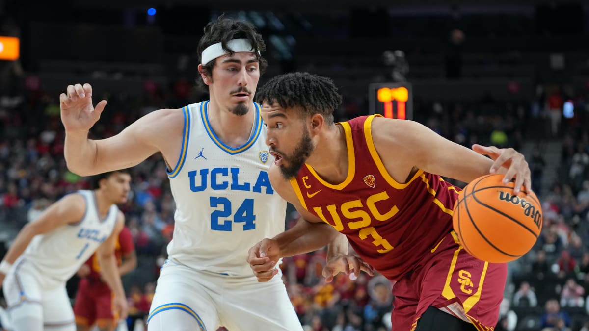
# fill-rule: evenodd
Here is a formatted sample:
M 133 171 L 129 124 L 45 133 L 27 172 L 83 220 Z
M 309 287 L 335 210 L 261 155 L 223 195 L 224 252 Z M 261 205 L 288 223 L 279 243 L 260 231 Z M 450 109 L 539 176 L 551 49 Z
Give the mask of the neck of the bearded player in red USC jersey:
M 332 125 L 321 134 L 307 164 L 330 184 L 340 184 L 348 177 L 348 145 L 342 125 Z

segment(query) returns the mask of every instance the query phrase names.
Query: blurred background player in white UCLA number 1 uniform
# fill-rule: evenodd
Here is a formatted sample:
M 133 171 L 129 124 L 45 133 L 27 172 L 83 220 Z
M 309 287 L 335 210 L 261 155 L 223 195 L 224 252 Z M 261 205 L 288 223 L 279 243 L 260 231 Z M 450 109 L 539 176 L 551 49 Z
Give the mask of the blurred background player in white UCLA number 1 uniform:
M 115 204 L 127 200 L 131 176 L 102 174 L 99 188 L 61 198 L 25 225 L 0 264 L 0 283 L 15 331 L 75 331 L 65 283 L 97 251 L 114 309 L 127 315 L 115 244 L 125 222 Z

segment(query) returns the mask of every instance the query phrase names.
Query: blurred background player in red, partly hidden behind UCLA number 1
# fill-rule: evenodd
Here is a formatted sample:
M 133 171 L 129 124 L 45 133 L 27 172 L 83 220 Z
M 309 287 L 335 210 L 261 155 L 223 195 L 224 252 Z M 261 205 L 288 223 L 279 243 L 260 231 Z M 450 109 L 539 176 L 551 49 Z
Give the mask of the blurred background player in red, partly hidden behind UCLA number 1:
M 115 256 L 121 276 L 137 267 L 133 237 L 126 226 L 118 235 Z M 96 254 L 82 264 L 78 276 L 81 279 L 74 303 L 77 330 L 88 331 L 96 325 L 100 331 L 114 331 L 118 325 L 118 316 L 112 313 L 112 292 L 102 281 Z

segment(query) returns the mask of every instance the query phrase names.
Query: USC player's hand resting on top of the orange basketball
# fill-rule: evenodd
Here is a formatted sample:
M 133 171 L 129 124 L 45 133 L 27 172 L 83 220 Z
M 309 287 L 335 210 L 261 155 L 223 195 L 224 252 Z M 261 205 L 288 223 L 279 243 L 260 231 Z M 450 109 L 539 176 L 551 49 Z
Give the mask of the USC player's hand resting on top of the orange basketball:
M 515 178 L 514 193 L 519 193 L 522 184 L 527 192 L 532 191 L 531 171 L 523 154 L 513 148 L 497 148 L 495 146 L 472 145 L 472 150 L 479 154 L 488 155 L 495 162 L 489 169 L 489 173 L 496 174 L 499 168 L 507 168 L 503 177 L 503 183 L 507 184 Z

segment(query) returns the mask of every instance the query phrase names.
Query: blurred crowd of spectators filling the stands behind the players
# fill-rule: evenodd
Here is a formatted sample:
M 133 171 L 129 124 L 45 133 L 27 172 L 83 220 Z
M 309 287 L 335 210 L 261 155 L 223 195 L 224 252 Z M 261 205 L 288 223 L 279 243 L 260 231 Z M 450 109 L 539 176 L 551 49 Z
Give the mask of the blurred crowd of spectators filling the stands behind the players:
M 589 312 L 589 94 L 565 90 L 543 87 L 537 100 L 521 102 L 491 97 L 470 104 L 431 102 L 418 96 L 414 102 L 415 120 L 456 143 L 518 150 L 532 143 L 534 147 L 527 158 L 534 190 L 543 201 L 544 229 L 534 249 L 509 266 L 510 281 L 496 330 L 589 328 L 585 325 Z M 64 194 L 90 188 L 90 181 L 65 165 L 57 95 L 42 91 L 35 77 L 24 79 L 21 89 L 4 92 L 0 95 L 0 241 L 4 242 L 0 249 L 5 251 L 24 224 Z M 147 82 L 141 98 L 124 93 L 102 97 L 108 105 L 91 131 L 94 138 L 118 133 L 150 111 L 182 107 L 206 95 L 186 81 L 176 81 L 169 87 Z M 574 105 L 570 118 L 562 112 L 565 100 Z M 364 115 L 366 110 L 365 98 L 346 95 L 336 120 Z M 560 144 L 560 160 L 547 160 L 543 154 L 544 144 L 550 141 Z M 543 171 L 550 162 L 558 164 L 558 176 L 542 187 Z M 160 155 L 134 167 L 132 174 L 131 198 L 120 206 L 138 255 L 137 270 L 124 277 L 131 325 L 148 312 L 173 233 L 175 209 Z M 290 210 L 287 227 L 297 218 Z M 325 251 L 320 250 L 284 259 L 281 265 L 293 306 L 308 330 L 390 330 L 393 298 L 388 280 L 362 273 L 358 279 L 339 275 L 326 283 L 321 276 L 323 264 Z M 75 281 L 68 284 L 71 297 Z

